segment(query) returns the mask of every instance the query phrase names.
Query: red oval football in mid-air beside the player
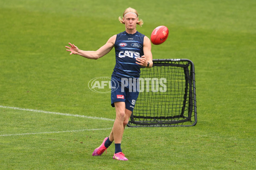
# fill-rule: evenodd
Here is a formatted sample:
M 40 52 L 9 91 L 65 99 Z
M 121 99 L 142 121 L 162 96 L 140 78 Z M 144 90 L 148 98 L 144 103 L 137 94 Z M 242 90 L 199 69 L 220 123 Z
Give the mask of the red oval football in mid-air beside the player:
M 158 26 L 153 30 L 150 39 L 154 45 L 159 45 L 166 41 L 168 35 L 169 30 L 166 26 Z

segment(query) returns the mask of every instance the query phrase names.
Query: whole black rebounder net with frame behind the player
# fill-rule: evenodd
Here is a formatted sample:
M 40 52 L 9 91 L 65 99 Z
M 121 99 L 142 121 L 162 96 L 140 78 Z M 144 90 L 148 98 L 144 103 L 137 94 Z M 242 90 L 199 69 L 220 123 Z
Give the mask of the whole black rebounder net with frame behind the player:
M 140 94 L 128 127 L 197 123 L 195 68 L 189 59 L 153 59 L 140 69 Z

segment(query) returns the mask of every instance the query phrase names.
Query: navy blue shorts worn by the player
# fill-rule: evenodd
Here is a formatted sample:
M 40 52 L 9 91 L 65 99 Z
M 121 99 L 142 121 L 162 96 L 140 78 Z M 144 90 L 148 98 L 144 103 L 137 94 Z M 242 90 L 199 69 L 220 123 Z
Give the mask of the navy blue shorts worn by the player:
M 137 79 L 126 79 L 111 77 L 111 106 L 115 107 L 114 102 L 125 102 L 125 108 L 129 111 L 134 110 L 135 102 L 139 96 L 140 83 Z

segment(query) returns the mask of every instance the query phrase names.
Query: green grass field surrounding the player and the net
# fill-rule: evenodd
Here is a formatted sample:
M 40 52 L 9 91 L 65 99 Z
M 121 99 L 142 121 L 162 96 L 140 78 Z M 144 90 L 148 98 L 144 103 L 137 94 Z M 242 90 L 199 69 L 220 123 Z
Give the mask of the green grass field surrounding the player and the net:
M 256 169 L 255 0 L 0 2 L 1 170 Z M 146 36 L 169 28 L 166 42 L 152 46 L 154 59 L 194 62 L 198 123 L 127 128 L 122 151 L 129 161 L 116 161 L 113 145 L 91 156 L 115 110 L 110 94 L 87 85 L 111 76 L 114 50 L 90 60 L 70 56 L 65 45 L 97 50 L 125 30 L 118 17 L 129 6 Z

